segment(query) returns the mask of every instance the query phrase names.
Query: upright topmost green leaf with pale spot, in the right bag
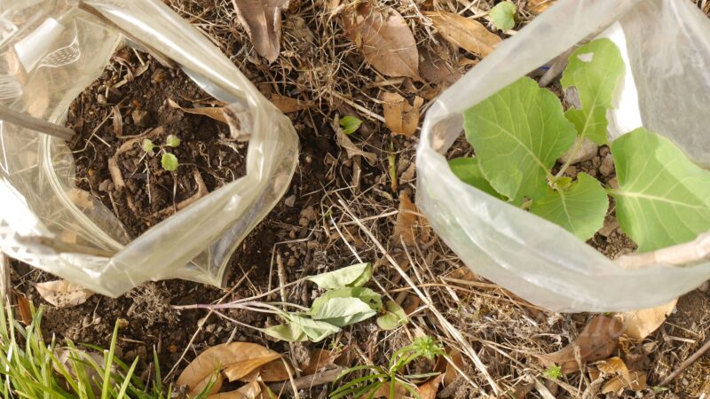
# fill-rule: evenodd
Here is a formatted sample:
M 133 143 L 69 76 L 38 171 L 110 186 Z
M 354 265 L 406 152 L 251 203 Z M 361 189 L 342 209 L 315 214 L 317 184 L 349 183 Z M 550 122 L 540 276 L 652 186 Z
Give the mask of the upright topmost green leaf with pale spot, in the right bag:
M 624 75 L 624 59 L 611 40 L 597 39 L 580 46 L 569 60 L 560 82 L 564 90 L 577 88 L 582 107 L 572 108 L 564 116 L 574 123 L 581 138 L 604 145 L 608 142 L 606 111 L 611 108 L 614 89 Z

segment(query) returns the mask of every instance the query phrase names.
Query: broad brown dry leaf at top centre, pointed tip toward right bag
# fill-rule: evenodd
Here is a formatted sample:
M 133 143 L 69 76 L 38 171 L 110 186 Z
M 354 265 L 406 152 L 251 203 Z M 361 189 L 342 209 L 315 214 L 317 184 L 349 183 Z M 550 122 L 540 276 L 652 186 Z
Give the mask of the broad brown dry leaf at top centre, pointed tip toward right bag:
M 381 74 L 421 80 L 414 35 L 395 9 L 359 4 L 354 12 L 343 12 L 343 24 L 345 34 Z

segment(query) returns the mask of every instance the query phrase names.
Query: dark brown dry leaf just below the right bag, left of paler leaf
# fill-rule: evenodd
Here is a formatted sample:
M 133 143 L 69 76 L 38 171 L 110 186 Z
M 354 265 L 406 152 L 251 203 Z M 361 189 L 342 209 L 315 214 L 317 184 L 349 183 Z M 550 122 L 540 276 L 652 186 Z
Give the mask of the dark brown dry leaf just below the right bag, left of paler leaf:
M 596 362 L 611 356 L 623 332 L 624 325 L 618 317 L 597 316 L 570 345 L 540 358 L 548 364 L 558 364 L 565 374 L 576 372 L 580 365 L 574 356 L 575 348 L 579 348 L 582 364 Z

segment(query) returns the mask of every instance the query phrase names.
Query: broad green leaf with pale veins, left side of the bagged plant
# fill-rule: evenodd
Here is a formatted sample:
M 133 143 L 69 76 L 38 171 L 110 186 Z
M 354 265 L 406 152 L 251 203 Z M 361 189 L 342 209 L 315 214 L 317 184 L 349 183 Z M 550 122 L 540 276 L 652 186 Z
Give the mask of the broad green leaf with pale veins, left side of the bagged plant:
M 463 120 L 484 176 L 515 204 L 546 195 L 549 169 L 576 137 L 560 100 L 527 77 L 469 108 Z

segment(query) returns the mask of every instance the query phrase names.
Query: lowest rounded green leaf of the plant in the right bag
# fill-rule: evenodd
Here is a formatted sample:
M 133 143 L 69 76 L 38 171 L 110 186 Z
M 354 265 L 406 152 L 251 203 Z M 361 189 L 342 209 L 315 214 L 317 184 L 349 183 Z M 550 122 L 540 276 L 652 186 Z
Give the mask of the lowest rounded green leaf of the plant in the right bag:
M 559 224 L 586 241 L 604 226 L 609 197 L 602 184 L 586 173 L 580 173 L 577 182 L 572 184 L 560 180 L 567 188 L 549 189 L 547 197 L 533 202 L 530 212 Z

